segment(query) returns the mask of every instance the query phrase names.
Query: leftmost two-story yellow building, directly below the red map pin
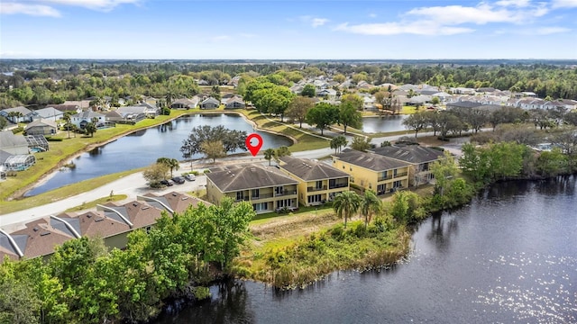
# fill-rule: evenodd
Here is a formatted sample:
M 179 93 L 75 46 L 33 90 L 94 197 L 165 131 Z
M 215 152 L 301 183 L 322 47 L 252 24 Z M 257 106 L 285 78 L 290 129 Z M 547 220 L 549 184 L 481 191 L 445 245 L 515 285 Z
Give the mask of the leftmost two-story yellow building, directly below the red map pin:
M 220 167 L 206 174 L 209 202 L 230 197 L 235 202 L 251 202 L 257 213 L 298 208 L 297 185 L 297 180 L 276 167 L 257 164 Z

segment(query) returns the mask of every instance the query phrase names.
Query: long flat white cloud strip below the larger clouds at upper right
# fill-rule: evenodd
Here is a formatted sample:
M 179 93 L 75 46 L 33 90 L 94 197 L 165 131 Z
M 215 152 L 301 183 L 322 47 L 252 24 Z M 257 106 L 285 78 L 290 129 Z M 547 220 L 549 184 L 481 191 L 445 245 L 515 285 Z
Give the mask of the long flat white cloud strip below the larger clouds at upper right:
M 471 28 L 449 27 L 433 22 L 415 23 L 361 23 L 349 25 L 342 23 L 335 28 L 335 31 L 347 31 L 363 35 L 454 35 L 472 32 Z

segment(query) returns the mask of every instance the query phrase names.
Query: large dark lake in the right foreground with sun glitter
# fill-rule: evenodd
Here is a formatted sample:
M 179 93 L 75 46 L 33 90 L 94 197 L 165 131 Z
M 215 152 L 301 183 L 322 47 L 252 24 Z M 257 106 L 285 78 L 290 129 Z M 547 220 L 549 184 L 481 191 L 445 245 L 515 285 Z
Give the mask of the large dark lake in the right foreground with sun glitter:
M 155 323 L 576 323 L 576 181 L 493 185 L 421 223 L 388 270 L 288 292 L 230 281 Z

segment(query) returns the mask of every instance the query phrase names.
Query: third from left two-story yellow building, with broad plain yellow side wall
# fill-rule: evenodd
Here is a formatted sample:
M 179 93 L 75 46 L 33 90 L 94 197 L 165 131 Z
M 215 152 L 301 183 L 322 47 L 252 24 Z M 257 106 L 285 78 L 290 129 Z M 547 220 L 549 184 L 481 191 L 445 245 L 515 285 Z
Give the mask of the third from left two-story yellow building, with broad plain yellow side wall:
M 411 165 L 375 153 L 345 148 L 333 156 L 333 166 L 351 175 L 351 184 L 384 194 L 408 187 Z

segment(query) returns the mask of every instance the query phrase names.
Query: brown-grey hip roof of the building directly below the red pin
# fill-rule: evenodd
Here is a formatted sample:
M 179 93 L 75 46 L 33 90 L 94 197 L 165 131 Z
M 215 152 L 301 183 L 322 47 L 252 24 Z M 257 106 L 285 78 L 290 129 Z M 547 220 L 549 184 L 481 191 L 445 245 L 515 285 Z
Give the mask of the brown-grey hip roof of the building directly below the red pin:
M 297 180 L 282 175 L 279 169 L 260 165 L 234 166 L 222 171 L 213 171 L 206 176 L 223 193 L 238 190 L 264 188 L 284 184 L 298 184 Z

